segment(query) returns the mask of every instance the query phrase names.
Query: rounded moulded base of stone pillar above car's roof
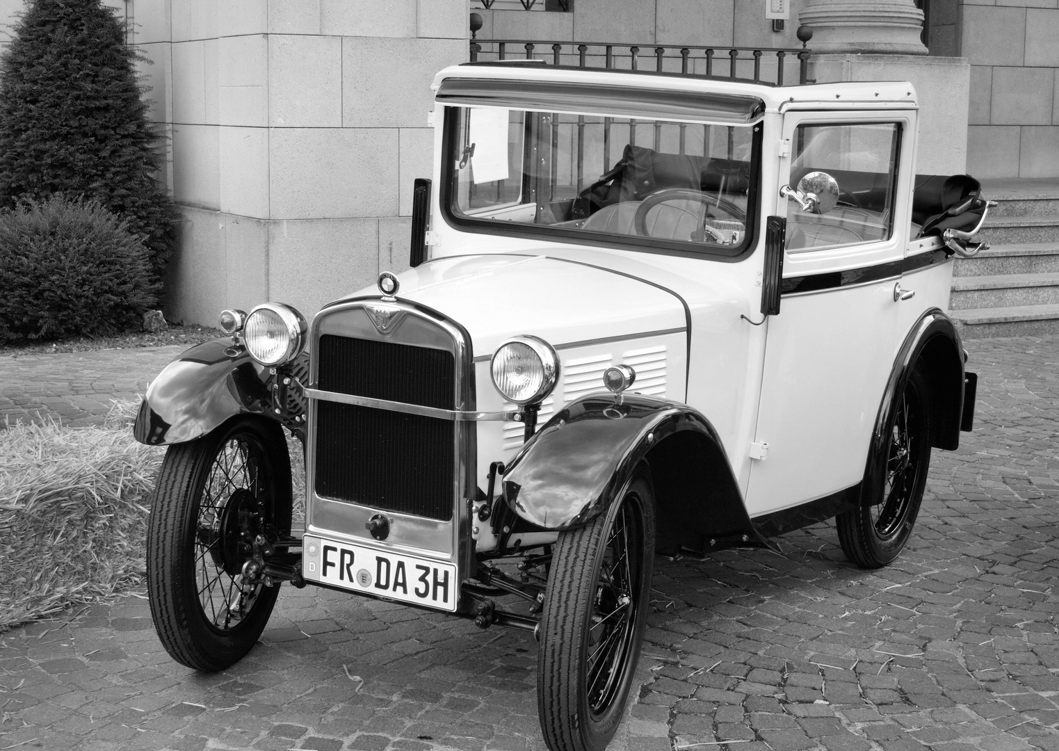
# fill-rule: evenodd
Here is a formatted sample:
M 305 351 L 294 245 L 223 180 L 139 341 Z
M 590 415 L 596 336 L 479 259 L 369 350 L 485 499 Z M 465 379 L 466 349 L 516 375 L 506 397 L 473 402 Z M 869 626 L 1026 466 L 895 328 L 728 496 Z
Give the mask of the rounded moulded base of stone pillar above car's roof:
M 912 0 L 806 0 L 798 20 L 812 26 L 815 54 L 927 54 L 923 13 Z

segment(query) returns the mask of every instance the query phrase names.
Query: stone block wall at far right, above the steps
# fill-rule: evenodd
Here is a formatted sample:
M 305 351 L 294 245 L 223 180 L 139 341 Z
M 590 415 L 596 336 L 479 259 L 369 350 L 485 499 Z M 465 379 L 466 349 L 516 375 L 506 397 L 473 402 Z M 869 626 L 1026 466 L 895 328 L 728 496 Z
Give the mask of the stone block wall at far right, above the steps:
M 961 38 L 968 171 L 1059 177 L 1059 0 L 964 0 Z

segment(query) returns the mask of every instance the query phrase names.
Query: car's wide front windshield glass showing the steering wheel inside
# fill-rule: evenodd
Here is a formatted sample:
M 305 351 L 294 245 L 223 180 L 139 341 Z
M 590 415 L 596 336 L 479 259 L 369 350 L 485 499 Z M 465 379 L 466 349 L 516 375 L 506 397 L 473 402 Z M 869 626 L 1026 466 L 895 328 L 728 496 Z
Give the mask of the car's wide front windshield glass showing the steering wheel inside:
M 460 107 L 446 127 L 457 223 L 725 255 L 751 240 L 759 126 Z

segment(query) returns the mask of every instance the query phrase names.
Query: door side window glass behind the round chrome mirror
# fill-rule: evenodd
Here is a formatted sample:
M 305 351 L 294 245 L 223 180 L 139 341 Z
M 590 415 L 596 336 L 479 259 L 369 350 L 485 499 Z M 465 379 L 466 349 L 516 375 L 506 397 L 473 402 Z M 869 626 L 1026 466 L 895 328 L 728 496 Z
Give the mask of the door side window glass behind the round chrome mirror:
M 889 239 L 900 142 L 897 123 L 800 125 L 794 131 L 791 185 L 811 172 L 839 183 L 826 214 L 787 203 L 787 250 L 804 251 Z

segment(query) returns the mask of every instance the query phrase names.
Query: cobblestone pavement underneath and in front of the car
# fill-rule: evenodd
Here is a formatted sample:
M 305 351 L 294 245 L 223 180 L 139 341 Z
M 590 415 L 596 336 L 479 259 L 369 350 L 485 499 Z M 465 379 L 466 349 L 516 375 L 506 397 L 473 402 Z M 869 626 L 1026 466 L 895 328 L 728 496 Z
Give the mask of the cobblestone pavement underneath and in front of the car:
M 975 431 L 894 565 L 850 566 L 830 522 L 659 558 L 612 749 L 1059 751 L 1059 337 L 968 348 Z M 311 587 L 199 675 L 137 593 L 0 634 L 0 749 L 541 749 L 535 678 L 524 633 Z

